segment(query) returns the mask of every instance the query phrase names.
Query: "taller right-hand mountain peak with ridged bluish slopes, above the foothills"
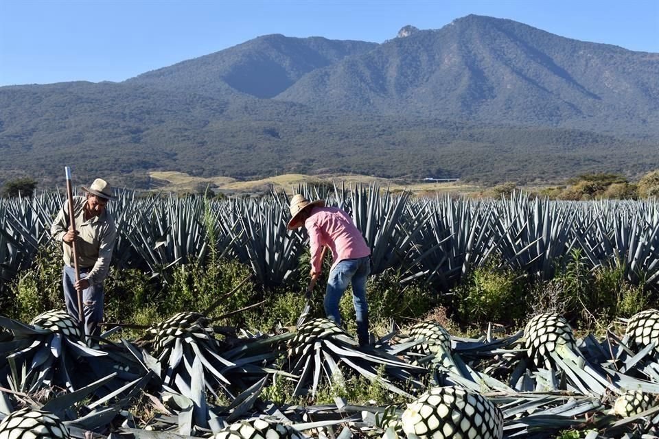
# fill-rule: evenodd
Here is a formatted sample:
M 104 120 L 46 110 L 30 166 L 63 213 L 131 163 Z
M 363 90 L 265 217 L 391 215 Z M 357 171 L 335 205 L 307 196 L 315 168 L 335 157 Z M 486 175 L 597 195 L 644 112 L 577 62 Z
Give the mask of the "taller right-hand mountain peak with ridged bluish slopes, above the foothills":
M 659 133 L 659 54 L 470 15 L 316 69 L 277 96 L 318 108 Z

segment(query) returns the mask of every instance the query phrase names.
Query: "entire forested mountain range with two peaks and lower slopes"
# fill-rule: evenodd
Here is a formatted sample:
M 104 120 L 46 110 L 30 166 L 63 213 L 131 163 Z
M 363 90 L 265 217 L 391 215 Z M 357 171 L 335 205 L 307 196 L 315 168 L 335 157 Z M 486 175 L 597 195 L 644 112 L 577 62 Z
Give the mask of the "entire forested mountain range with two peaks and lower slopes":
M 636 176 L 659 159 L 657 78 L 659 54 L 483 16 L 382 44 L 267 35 L 119 83 L 0 87 L 0 180 Z

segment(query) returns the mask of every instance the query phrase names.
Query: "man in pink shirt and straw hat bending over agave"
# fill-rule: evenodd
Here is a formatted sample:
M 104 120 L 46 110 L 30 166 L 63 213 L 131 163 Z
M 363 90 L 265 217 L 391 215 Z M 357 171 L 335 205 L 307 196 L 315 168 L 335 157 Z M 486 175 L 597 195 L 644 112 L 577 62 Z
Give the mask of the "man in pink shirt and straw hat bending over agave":
M 325 290 L 325 314 L 340 326 L 338 302 L 352 283 L 352 302 L 357 315 L 357 339 L 360 346 L 369 344 L 369 305 L 366 280 L 371 273 L 371 249 L 352 219 L 337 207 L 325 207 L 323 200 L 310 202 L 302 195 L 290 200 L 288 229 L 302 225 L 309 234 L 311 276 L 318 277 L 323 265 L 323 247 L 332 250 L 334 262 Z

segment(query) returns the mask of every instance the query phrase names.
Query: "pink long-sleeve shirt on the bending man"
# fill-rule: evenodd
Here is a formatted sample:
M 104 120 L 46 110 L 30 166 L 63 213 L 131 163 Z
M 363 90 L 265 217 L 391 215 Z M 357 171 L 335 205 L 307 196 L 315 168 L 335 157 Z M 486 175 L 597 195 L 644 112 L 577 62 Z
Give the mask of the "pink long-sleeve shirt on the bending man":
M 352 219 L 338 207 L 314 207 L 304 227 L 309 234 L 314 273 L 321 272 L 323 246 L 332 250 L 332 268 L 343 259 L 362 258 L 371 254 L 371 249 Z

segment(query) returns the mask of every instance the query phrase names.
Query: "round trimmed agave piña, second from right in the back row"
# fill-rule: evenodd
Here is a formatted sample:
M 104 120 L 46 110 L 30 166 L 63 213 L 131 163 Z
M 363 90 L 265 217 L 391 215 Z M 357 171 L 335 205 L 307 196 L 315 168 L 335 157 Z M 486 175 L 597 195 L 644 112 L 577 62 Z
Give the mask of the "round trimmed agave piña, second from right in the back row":
M 535 316 L 524 327 L 524 348 L 537 367 L 551 367 L 553 361 L 549 353 L 559 344 L 565 344 L 571 351 L 577 349 L 570 324 L 556 313 Z

